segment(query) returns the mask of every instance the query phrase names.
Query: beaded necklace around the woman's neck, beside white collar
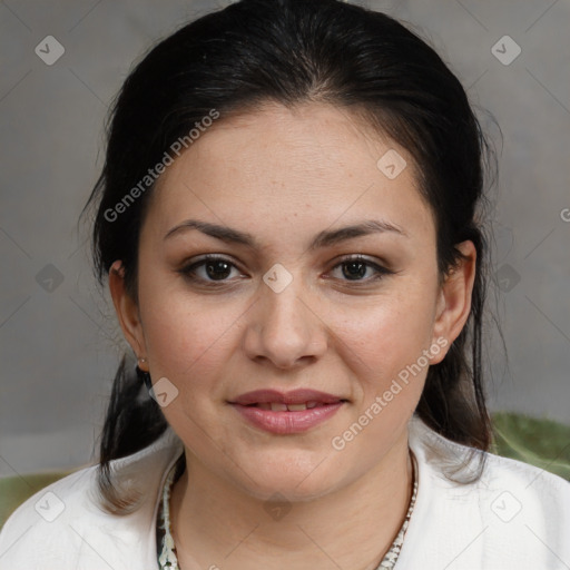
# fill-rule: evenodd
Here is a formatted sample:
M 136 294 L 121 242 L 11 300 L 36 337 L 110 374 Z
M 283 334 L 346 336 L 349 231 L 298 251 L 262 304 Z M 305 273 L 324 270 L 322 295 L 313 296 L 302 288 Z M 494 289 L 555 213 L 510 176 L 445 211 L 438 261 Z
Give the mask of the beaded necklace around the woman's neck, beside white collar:
M 411 450 L 410 455 L 412 456 L 413 473 L 413 489 L 412 497 L 410 499 L 410 505 L 407 507 L 407 512 L 405 514 L 404 522 L 402 523 L 402 527 L 400 528 L 396 538 L 392 542 L 392 546 L 390 547 L 389 551 L 384 554 L 382 562 L 380 562 L 375 570 L 392 570 L 397 561 L 400 551 L 402 550 L 402 544 L 404 543 L 405 531 L 407 530 L 407 525 L 410 524 L 410 519 L 412 517 L 412 512 L 415 505 L 415 498 L 417 495 L 417 464 L 415 455 L 412 453 Z M 180 459 L 170 468 L 170 471 L 168 472 L 168 475 L 165 480 L 165 484 L 163 487 L 163 500 L 160 503 L 160 508 L 158 509 L 159 523 L 157 524 L 157 544 L 161 542 L 161 552 L 158 557 L 159 570 L 180 570 L 180 567 L 178 566 L 178 559 L 176 557 L 176 546 L 170 533 L 170 492 L 173 489 L 175 476 L 177 472 L 180 471 L 180 460 L 183 456 L 184 455 L 181 455 Z M 180 474 L 181 471 L 178 473 L 178 476 Z

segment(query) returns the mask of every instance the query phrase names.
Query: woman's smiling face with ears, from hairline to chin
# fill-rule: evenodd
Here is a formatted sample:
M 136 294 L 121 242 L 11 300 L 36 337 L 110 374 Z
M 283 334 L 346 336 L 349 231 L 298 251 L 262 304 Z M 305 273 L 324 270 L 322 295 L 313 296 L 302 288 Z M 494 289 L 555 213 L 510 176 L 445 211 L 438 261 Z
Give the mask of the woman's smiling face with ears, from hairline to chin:
M 377 166 L 391 149 L 407 164 L 393 179 Z M 439 286 L 412 164 L 312 104 L 220 118 L 167 168 L 141 228 L 138 305 L 116 272 L 111 293 L 204 473 L 307 500 L 406 445 L 472 283 L 466 265 Z

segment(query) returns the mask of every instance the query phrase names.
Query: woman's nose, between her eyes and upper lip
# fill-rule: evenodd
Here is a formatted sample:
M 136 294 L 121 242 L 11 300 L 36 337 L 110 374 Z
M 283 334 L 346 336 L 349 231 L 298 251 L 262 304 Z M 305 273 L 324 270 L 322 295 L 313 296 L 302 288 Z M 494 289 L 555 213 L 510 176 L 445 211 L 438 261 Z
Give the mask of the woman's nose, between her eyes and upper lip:
M 295 278 L 279 293 L 262 283 L 244 338 L 252 360 L 288 370 L 315 362 L 326 352 L 326 324 L 302 288 Z

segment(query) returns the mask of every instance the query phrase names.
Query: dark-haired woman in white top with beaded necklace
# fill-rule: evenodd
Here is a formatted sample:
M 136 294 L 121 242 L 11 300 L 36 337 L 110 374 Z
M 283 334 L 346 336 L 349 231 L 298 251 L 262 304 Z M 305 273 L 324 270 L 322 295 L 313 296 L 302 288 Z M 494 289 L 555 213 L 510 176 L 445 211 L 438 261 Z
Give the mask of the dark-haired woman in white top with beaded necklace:
M 568 483 L 487 453 L 487 157 L 382 13 L 244 0 L 154 48 L 90 198 L 137 364 L 2 568 L 570 567 Z

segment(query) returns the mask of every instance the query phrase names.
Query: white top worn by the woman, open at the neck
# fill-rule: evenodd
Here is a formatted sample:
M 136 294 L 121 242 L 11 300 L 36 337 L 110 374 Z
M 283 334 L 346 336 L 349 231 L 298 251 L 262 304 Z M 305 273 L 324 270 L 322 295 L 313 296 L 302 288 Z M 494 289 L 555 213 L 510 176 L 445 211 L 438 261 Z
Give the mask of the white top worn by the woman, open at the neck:
M 570 569 L 570 483 L 524 463 L 488 455 L 475 483 L 444 476 L 469 448 L 413 419 L 417 497 L 396 570 Z M 168 428 L 148 448 L 112 462 L 141 490 L 128 515 L 98 508 L 96 465 L 52 483 L 21 504 L 0 532 L 0 570 L 156 570 L 161 489 L 184 446 Z M 476 458 L 468 466 L 476 466 Z

